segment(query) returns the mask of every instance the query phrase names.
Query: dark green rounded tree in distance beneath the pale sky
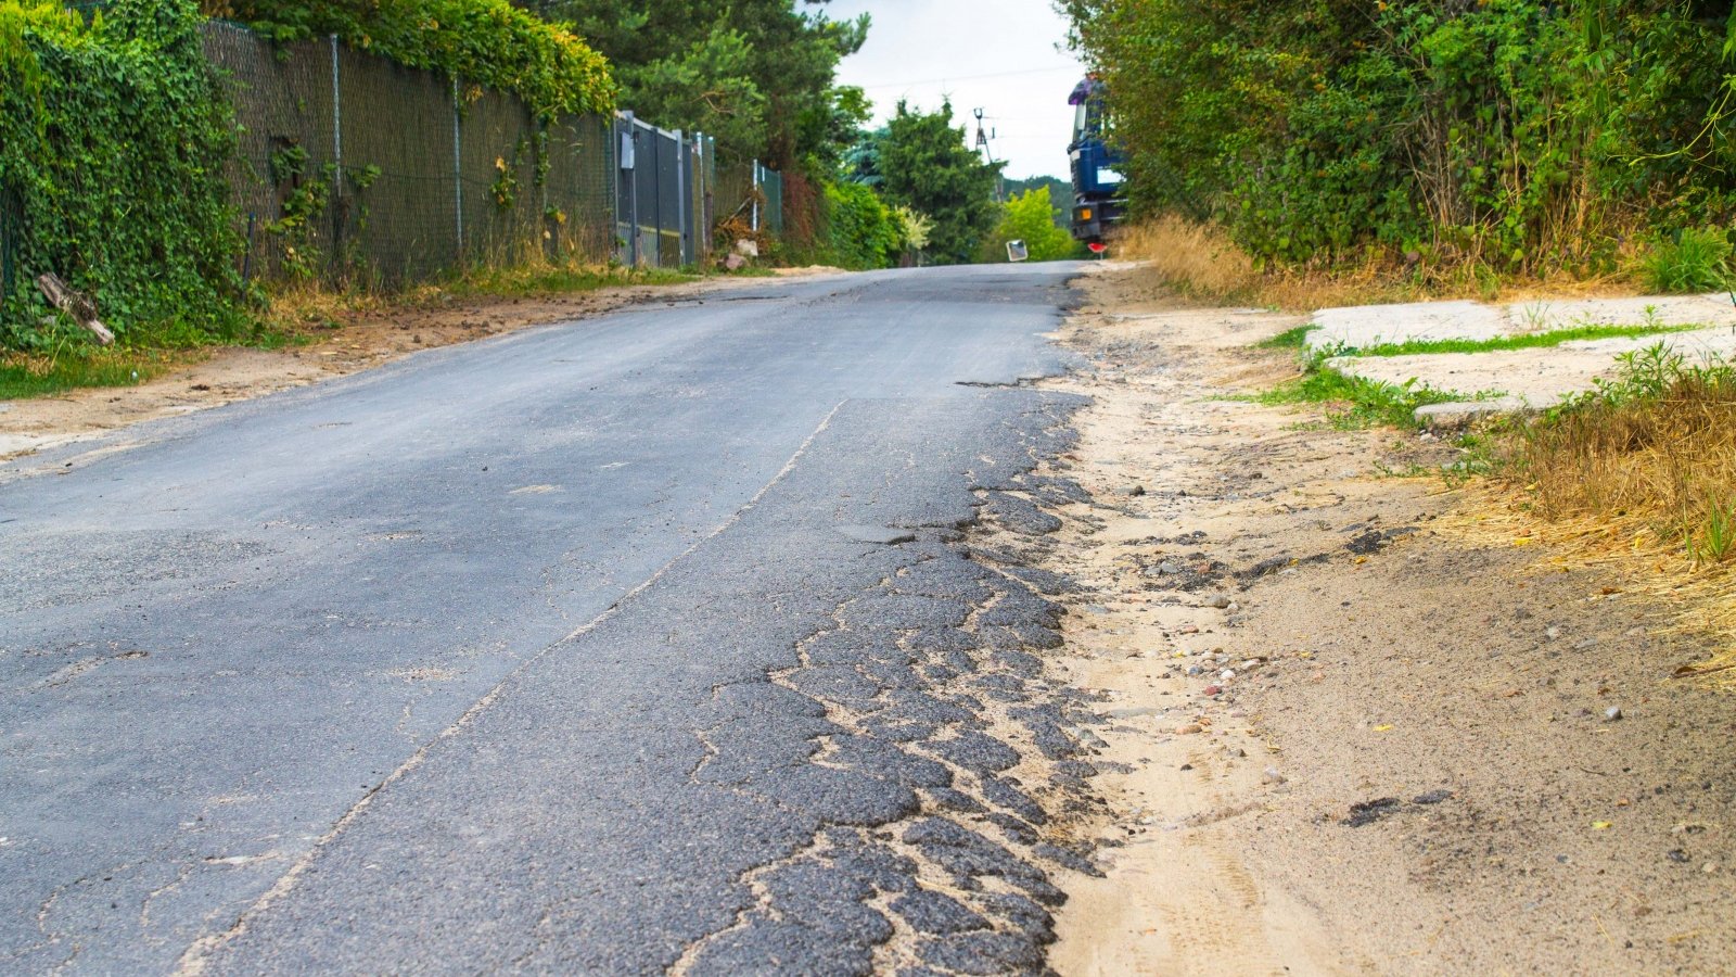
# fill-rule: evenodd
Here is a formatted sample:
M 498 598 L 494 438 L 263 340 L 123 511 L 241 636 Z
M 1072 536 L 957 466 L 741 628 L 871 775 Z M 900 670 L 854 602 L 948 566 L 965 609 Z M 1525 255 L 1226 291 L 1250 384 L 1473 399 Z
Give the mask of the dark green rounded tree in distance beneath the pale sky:
M 995 224 L 995 181 L 1003 163 L 984 163 L 965 148 L 965 130 L 953 125 L 951 103 L 924 113 L 898 103 L 878 141 L 882 196 L 934 221 L 929 254 L 946 263 L 976 257 L 977 243 Z

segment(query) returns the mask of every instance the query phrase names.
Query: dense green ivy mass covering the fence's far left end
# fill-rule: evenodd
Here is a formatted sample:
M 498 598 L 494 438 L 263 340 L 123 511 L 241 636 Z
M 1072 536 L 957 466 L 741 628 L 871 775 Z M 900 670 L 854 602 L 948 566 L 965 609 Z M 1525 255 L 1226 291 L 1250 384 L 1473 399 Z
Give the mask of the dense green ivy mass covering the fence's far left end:
M 35 290 L 49 271 L 122 337 L 187 344 L 236 325 L 233 130 L 198 30 L 182 0 L 118 0 L 89 24 L 0 0 L 0 202 L 17 223 L 0 346 L 54 341 Z

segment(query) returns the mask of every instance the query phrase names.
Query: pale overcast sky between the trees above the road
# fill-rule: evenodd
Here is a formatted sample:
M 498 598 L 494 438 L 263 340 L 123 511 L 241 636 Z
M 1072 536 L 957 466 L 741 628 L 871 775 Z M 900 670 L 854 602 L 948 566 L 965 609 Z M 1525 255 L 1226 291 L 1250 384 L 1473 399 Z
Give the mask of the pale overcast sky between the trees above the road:
M 1068 177 L 1068 94 L 1085 68 L 1066 50 L 1068 24 L 1050 0 L 832 0 L 825 10 L 873 16 L 868 43 L 838 64 L 838 83 L 868 90 L 877 123 L 899 97 L 932 111 L 950 94 L 953 120 L 972 136 L 970 113 L 984 110 L 1007 176 Z

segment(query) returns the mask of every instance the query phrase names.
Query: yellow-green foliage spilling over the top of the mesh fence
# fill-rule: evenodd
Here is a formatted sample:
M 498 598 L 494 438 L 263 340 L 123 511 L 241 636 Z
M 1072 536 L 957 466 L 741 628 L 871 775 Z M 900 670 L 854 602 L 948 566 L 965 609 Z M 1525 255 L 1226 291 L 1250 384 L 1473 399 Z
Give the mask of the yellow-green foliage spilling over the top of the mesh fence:
M 507 0 L 238 0 L 234 16 L 274 40 L 335 33 L 399 64 L 512 92 L 543 116 L 615 108 L 609 63 Z

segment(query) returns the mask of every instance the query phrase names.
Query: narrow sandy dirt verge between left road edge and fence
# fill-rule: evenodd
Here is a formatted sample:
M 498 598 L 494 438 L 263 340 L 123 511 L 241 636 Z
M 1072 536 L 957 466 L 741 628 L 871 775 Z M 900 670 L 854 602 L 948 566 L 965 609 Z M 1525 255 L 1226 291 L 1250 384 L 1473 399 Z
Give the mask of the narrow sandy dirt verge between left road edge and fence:
M 783 269 L 779 276 L 832 271 L 837 269 Z M 354 374 L 418 349 L 594 318 L 639 302 L 703 301 L 703 296 L 712 292 L 766 283 L 766 278 L 712 278 L 681 285 L 635 285 L 564 296 L 464 299 L 415 308 L 333 313 L 307 327 L 314 339 L 302 346 L 219 348 L 201 362 L 139 386 L 0 400 L 0 461 L 155 417 L 205 410 Z

